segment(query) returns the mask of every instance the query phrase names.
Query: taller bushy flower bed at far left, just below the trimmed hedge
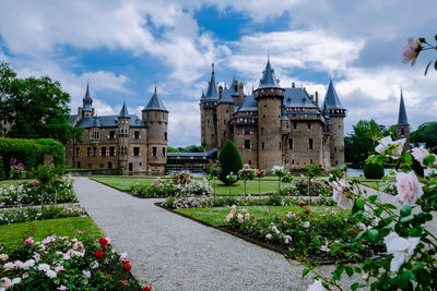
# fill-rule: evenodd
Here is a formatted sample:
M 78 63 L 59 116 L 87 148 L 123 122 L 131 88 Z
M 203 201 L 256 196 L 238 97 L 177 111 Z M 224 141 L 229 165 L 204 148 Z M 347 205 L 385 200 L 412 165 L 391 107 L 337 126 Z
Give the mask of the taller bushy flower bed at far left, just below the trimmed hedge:
M 73 203 L 78 198 L 73 191 L 73 180 L 70 177 L 57 177 L 50 184 L 44 189 L 42 195 L 42 185 L 39 182 L 21 181 L 17 185 L 0 186 L 0 207 L 38 205 L 43 202 L 50 204 Z

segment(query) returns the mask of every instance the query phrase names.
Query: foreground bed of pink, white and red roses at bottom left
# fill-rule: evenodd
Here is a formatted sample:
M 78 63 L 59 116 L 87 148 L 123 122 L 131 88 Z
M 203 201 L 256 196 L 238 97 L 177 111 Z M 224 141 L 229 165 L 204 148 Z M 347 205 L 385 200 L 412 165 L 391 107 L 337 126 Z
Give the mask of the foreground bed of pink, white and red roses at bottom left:
M 97 241 L 82 232 L 42 242 L 28 238 L 14 250 L 0 248 L 0 286 L 13 290 L 139 289 L 131 268 L 127 254 L 118 255 L 107 238 Z

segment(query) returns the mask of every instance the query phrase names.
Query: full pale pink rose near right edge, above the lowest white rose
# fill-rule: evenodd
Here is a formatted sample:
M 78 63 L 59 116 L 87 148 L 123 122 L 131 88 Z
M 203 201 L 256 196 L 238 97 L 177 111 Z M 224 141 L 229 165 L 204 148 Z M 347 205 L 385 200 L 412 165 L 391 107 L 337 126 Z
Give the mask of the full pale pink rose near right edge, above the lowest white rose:
M 402 203 L 414 204 L 422 195 L 422 184 L 413 171 L 397 173 L 398 199 Z

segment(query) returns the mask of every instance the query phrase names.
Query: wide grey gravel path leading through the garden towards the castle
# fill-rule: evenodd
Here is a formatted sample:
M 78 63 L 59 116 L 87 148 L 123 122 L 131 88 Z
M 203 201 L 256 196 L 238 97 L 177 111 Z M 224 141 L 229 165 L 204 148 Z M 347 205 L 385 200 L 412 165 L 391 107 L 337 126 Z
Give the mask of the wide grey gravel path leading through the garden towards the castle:
M 87 178 L 75 178 L 74 189 L 117 252 L 129 254 L 133 276 L 154 290 L 306 290 L 311 283 L 296 262 L 162 209 L 154 205 L 160 199 L 135 198 Z

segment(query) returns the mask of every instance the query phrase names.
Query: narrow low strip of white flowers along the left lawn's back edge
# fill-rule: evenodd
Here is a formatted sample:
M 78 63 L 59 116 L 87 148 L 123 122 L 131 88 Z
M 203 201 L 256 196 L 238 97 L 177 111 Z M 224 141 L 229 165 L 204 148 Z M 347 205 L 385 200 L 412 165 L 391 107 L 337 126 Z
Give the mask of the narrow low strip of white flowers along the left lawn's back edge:
M 20 207 L 0 210 L 0 226 L 19 223 L 25 221 L 35 221 L 42 219 L 66 218 L 86 216 L 85 209 L 79 204 L 73 205 L 50 205 L 40 207 Z

